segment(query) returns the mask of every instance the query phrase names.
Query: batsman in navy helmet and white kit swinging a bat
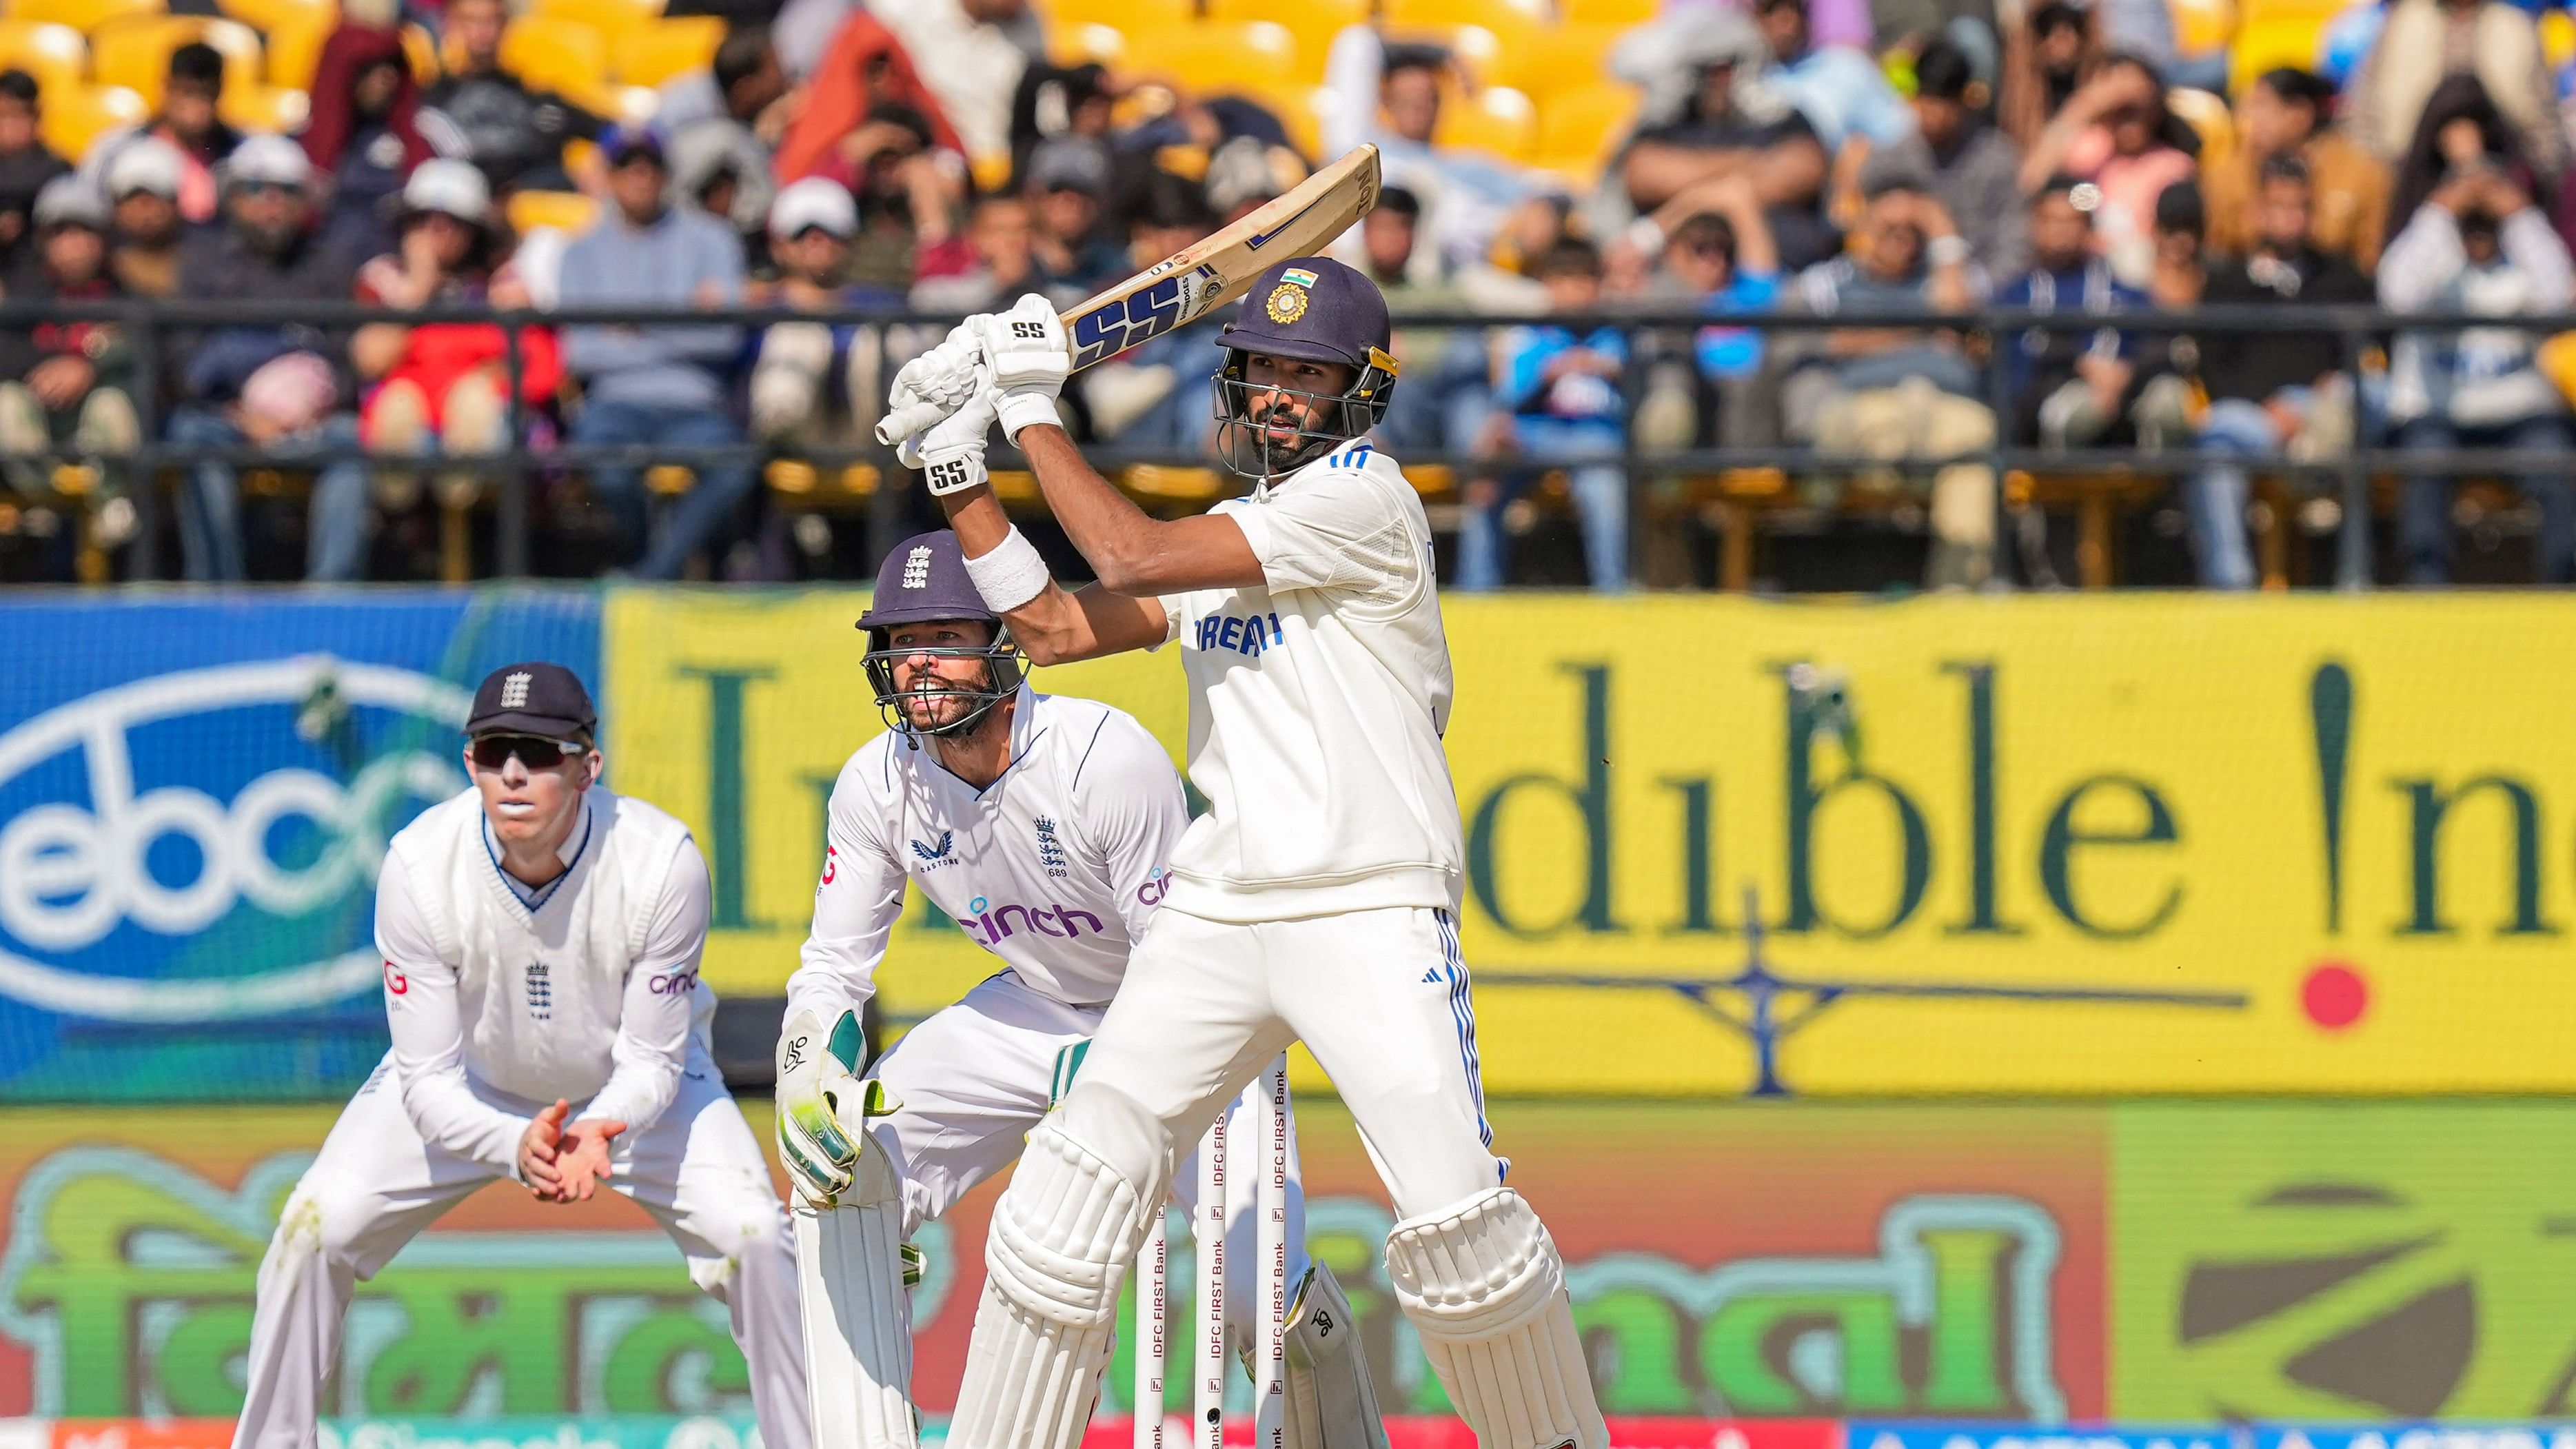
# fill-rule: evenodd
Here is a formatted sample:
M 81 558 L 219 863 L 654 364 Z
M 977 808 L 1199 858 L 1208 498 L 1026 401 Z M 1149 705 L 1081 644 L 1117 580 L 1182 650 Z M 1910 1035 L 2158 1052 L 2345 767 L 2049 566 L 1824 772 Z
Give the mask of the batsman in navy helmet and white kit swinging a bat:
M 1177 647 L 1190 779 L 1208 797 L 1082 1078 L 994 1207 L 948 1441 L 1079 1441 L 1175 1142 L 1301 1039 L 1386 1178 L 1388 1281 L 1479 1441 L 1602 1449 L 1564 1261 L 1484 1124 L 1432 536 L 1365 441 L 1396 382 L 1386 299 L 1337 260 L 1291 258 L 1218 345 L 1218 443 L 1255 490 L 1180 521 L 1144 516 L 1061 431 L 1072 353 L 1041 297 L 971 317 L 896 376 L 907 397 L 979 379 L 907 443 L 979 593 L 1036 663 Z M 1051 583 L 979 487 L 994 420 L 1097 585 Z

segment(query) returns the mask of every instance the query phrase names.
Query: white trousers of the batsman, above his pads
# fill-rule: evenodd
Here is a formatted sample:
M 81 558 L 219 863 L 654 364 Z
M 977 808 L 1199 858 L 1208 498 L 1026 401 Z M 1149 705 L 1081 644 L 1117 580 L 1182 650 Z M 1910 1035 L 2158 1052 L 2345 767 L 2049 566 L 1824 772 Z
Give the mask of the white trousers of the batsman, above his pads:
M 1252 926 L 1159 908 L 1064 1101 L 1064 1132 L 1151 1186 L 1288 1042 L 1342 1093 L 1399 1220 L 1502 1181 L 1458 923 L 1427 908 Z

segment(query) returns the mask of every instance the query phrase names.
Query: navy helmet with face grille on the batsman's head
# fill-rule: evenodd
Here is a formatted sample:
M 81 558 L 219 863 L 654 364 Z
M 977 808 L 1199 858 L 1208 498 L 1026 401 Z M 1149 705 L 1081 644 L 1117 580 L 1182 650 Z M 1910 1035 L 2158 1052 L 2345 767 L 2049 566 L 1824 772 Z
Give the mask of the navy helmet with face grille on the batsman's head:
M 1332 258 L 1288 258 L 1273 266 L 1216 335 L 1216 345 L 1226 348 L 1213 376 L 1218 456 L 1244 477 L 1267 480 L 1376 428 L 1396 392 L 1388 343 L 1378 284 Z M 1350 384 L 1340 392 L 1285 387 L 1285 379 L 1255 387 L 1244 376 L 1244 358 L 1252 353 L 1291 364 L 1342 364 Z M 1267 418 L 1291 423 L 1288 436 L 1267 418 L 1252 418 L 1255 397 L 1265 400 Z

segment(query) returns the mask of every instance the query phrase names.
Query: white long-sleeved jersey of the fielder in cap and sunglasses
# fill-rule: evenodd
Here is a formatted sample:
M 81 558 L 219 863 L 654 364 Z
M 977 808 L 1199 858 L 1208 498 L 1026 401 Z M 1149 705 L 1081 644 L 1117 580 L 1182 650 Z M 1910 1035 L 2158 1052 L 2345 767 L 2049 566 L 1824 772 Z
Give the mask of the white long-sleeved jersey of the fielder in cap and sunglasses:
M 598 784 L 582 810 L 536 905 L 502 877 L 474 789 L 404 825 L 376 877 L 402 1106 L 425 1140 L 500 1171 L 554 1098 L 639 1134 L 716 1008 L 698 982 L 708 882 L 688 825 Z

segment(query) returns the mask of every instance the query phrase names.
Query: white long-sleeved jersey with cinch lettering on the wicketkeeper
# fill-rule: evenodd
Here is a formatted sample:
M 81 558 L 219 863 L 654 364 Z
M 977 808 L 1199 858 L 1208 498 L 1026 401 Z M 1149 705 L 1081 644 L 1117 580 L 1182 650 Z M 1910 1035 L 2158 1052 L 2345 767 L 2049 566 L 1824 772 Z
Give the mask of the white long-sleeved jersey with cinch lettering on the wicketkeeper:
M 969 941 L 1066 1006 L 1118 995 L 1190 822 L 1162 745 L 1121 709 L 1020 686 L 1010 768 L 976 789 L 933 745 L 868 740 L 832 784 L 814 931 L 788 1016 L 832 1021 L 876 995 L 917 882 Z

